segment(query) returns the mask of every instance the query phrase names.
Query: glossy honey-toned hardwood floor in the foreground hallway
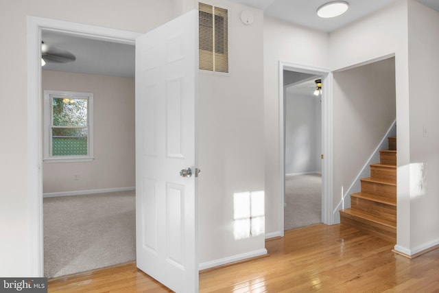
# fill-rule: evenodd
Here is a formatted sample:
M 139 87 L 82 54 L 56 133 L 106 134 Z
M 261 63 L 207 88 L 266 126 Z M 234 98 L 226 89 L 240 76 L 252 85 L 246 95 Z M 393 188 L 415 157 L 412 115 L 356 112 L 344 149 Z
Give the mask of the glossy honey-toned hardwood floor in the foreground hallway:
M 200 272 L 200 292 L 439 292 L 439 249 L 415 259 L 344 225 L 266 242 L 269 256 Z M 135 263 L 49 280 L 49 292 L 171 292 Z

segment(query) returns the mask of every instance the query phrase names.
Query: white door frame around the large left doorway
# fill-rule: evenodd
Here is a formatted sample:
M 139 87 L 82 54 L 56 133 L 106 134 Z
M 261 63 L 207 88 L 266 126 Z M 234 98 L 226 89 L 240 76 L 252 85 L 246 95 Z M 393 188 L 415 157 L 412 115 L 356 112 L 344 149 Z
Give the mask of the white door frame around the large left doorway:
M 41 93 L 41 31 L 135 45 L 140 33 L 108 27 L 27 16 L 27 212 L 29 275 L 44 277 L 43 237 L 43 97 Z

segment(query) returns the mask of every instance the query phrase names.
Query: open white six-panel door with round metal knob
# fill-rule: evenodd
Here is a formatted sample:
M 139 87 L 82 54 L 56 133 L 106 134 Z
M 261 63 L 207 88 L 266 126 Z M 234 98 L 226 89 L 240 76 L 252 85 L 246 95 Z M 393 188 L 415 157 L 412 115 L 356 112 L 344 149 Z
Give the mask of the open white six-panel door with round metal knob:
M 197 100 L 193 10 L 136 40 L 137 267 L 185 293 L 198 292 Z

